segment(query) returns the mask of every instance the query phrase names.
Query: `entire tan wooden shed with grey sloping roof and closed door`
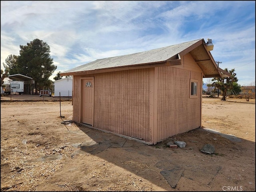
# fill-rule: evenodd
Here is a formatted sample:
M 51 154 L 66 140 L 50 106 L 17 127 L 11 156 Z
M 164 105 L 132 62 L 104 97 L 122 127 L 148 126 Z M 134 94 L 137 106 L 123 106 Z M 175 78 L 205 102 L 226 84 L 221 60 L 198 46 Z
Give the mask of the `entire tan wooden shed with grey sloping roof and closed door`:
M 204 39 L 98 59 L 73 76 L 73 121 L 156 144 L 202 125 L 203 78 L 218 68 Z

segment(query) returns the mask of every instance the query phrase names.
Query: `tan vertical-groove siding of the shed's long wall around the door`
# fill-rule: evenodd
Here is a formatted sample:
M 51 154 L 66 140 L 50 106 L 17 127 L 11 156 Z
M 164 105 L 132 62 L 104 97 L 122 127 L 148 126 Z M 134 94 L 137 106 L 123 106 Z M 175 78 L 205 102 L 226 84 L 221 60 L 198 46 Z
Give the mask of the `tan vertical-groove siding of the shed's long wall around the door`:
M 94 127 L 150 140 L 150 68 L 74 76 L 73 120 L 80 122 L 80 78 L 94 76 Z

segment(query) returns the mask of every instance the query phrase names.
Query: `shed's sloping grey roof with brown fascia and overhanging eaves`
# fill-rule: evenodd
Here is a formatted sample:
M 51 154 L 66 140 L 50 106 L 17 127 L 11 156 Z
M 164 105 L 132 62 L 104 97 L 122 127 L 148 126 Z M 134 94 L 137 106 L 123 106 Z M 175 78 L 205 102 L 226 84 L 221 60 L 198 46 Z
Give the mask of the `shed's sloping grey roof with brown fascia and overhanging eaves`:
M 98 59 L 62 72 L 60 75 L 93 74 L 134 68 L 180 65 L 181 56 L 188 52 L 202 69 L 204 77 L 221 77 L 223 73 L 228 74 L 218 68 L 210 51 L 206 50 L 205 44 L 204 39 L 198 39 L 134 54 Z

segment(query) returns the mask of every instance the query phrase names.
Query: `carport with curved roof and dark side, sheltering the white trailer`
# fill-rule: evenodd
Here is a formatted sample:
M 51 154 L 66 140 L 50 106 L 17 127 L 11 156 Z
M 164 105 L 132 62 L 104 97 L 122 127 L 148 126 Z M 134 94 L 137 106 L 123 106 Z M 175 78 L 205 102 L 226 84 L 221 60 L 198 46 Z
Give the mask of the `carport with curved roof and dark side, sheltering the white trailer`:
M 33 80 L 33 78 L 22 75 L 22 74 L 9 75 L 8 78 L 15 81 L 23 81 L 24 94 L 34 95 L 35 81 Z

